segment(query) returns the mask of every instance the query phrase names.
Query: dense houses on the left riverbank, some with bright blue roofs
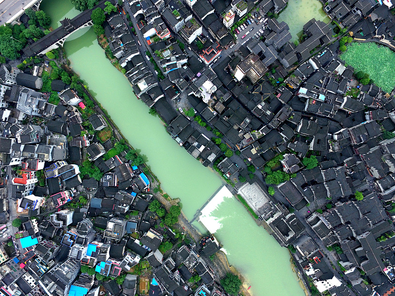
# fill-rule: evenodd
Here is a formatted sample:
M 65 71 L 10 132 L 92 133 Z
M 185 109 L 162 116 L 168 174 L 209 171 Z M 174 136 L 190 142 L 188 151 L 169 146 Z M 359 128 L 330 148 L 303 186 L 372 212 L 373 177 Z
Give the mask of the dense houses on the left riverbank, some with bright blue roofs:
M 163 258 L 160 244 L 176 244 L 178 237 L 149 211 L 150 180 L 126 151 L 102 157 L 113 147 L 97 137 L 108 125 L 104 117 L 85 117 L 77 92 L 60 80 L 52 81 L 57 106 L 40 92 L 38 76 L 2 66 L 0 83 L 0 161 L 16 168 L 0 190 L 1 229 L 16 217 L 21 221 L 15 237 L 8 237 L 15 252 L 0 246 L 1 296 L 134 296 L 141 292 L 142 268 L 151 270 L 152 296 L 192 295 L 193 285 L 225 295 L 203 259 L 219 250 L 214 237 L 181 244 Z M 84 159 L 101 178 L 81 175 Z M 193 276 L 198 284 L 189 281 Z

